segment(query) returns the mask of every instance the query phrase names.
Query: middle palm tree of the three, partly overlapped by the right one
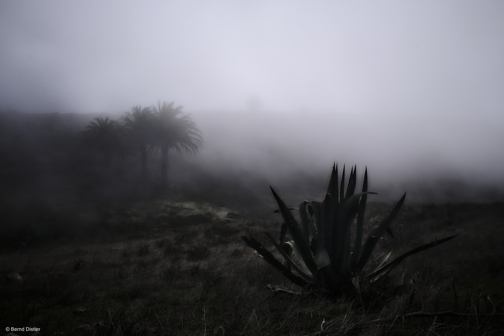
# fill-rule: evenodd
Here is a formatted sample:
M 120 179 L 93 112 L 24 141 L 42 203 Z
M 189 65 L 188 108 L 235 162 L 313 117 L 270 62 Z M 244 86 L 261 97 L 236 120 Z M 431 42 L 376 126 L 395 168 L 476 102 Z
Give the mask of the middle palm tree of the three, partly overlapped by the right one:
M 140 150 L 142 176 L 147 176 L 147 145 L 153 144 L 153 114 L 150 107 L 132 107 L 133 113 L 127 112 L 122 117 L 126 131 L 134 146 Z

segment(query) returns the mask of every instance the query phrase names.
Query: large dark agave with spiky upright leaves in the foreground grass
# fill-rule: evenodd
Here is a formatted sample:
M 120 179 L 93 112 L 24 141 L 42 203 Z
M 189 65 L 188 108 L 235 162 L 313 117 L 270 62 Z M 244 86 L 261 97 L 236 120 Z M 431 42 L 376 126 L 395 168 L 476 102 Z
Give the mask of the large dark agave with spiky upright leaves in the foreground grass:
M 364 172 L 362 192 L 354 193 L 356 167 L 352 167 L 346 192 L 344 179 L 345 166 L 343 166 L 338 188 L 338 166 L 334 164 L 324 199 L 322 201 L 303 200 L 299 208 L 287 208 L 270 186 L 279 207 L 275 212 L 282 214 L 285 223 L 282 224 L 279 241 L 276 241 L 269 232 L 264 233 L 284 257 L 286 265 L 276 259 L 256 239 L 242 236 L 243 240 L 255 250 L 256 254 L 263 257 L 292 283 L 302 288 L 323 288 L 332 293 L 340 293 L 358 286 L 358 280 L 361 277 L 374 282 L 389 273 L 404 258 L 457 236 L 415 246 L 393 260 L 389 260 L 392 251 L 386 252 L 376 259 L 374 267 L 366 269 L 366 264 L 371 259 L 379 239 L 385 233 L 395 238 L 390 224 L 401 209 L 406 193 L 399 199 L 390 215 L 380 225 L 371 228 L 362 244 L 367 194 L 376 192 L 367 191 L 367 168 Z M 293 209 L 299 209 L 301 226 L 290 212 Z M 355 216 L 357 216 L 357 228 L 352 247 L 350 233 Z M 286 239 L 287 231 L 292 240 Z M 299 263 L 294 262 L 293 253 Z M 293 270 L 297 275 L 292 272 Z

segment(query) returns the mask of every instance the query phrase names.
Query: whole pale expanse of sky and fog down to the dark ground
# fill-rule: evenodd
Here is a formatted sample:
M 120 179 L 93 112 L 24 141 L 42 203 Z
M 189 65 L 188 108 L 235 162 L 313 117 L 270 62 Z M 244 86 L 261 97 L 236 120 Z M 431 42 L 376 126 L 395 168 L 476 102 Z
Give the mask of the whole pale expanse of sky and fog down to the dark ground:
M 174 101 L 205 140 L 178 159 L 214 175 L 267 188 L 336 160 L 367 166 L 378 200 L 502 199 L 503 17 L 502 2 L 3 1 L 0 111 Z

